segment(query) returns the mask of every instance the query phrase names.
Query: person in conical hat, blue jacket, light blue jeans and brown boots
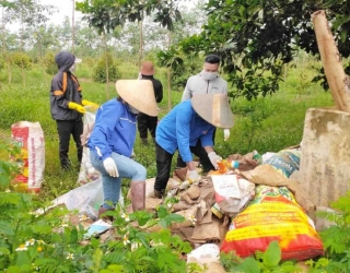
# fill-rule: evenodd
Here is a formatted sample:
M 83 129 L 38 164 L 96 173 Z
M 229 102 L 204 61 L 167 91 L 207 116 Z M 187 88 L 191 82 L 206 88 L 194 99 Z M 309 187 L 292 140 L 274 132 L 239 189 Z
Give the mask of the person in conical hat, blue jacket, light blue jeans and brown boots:
M 117 98 L 103 104 L 88 141 L 90 159 L 102 175 L 104 203 L 98 217 L 114 210 L 119 201 L 122 178 L 130 178 L 132 211 L 144 209 L 145 168 L 131 158 L 136 140 L 137 115 L 156 116 L 156 103 L 151 81 L 119 80 Z

